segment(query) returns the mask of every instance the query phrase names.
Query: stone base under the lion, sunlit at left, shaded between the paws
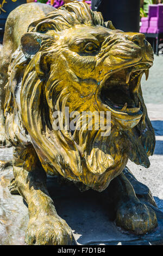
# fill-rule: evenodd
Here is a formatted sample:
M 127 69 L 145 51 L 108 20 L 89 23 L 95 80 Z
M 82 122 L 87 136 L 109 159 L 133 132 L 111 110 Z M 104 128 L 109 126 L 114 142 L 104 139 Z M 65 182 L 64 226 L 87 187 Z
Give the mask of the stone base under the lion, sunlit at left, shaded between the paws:
M 133 184 L 137 197 L 146 202 L 148 188 L 136 181 L 128 170 L 124 171 Z M 28 224 L 28 208 L 21 196 L 10 194 L 8 185 L 13 178 L 12 167 L 0 171 L 0 245 L 24 245 Z M 105 205 L 106 192 L 80 192 L 71 183 L 60 184 L 56 177 L 48 176 L 48 190 L 58 214 L 73 230 L 82 245 L 161 245 L 163 244 L 163 213 L 156 212 L 158 227 L 146 235 L 134 235 L 117 227 L 111 205 Z M 148 198 L 149 201 L 149 198 Z

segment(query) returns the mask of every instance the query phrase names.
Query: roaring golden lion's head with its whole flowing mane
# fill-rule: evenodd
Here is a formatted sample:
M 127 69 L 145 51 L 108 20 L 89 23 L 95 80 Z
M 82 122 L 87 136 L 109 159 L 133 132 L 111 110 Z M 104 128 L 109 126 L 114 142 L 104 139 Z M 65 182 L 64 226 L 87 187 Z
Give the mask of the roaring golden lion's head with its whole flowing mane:
M 152 64 L 143 34 L 115 29 L 85 3 L 65 4 L 31 23 L 12 55 L 6 136 L 32 143 L 46 172 L 102 191 L 128 159 L 149 167 L 155 137 L 140 81 Z M 65 107 L 81 113 L 76 127 L 83 111 L 111 112 L 110 135 L 53 129 L 53 113 Z

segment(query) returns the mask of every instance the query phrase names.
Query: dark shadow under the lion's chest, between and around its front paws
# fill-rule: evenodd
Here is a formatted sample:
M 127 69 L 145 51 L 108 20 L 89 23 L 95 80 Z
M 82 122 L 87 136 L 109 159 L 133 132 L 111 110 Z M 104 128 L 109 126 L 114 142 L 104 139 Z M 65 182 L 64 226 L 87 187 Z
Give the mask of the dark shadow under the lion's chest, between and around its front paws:
M 58 214 L 74 230 L 74 237 L 79 244 L 149 245 L 149 242 L 156 244 L 160 235 L 163 237 L 163 215 L 159 210 L 158 228 L 144 236 L 136 236 L 117 227 L 112 221 L 114 214 L 110 214 L 111 205 L 105 191 L 80 192 L 73 184 L 58 184 L 55 177 L 48 177 L 47 184 Z

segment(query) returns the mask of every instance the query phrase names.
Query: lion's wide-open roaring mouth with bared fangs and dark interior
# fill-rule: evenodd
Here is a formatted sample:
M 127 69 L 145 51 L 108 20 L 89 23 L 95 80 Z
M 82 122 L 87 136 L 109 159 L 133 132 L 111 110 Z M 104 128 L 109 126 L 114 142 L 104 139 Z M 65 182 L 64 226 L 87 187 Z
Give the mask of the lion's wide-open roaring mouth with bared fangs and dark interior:
M 138 90 L 144 72 L 148 78 L 148 69 L 147 64 L 138 64 L 106 77 L 99 94 L 101 102 L 114 111 L 141 114 Z

